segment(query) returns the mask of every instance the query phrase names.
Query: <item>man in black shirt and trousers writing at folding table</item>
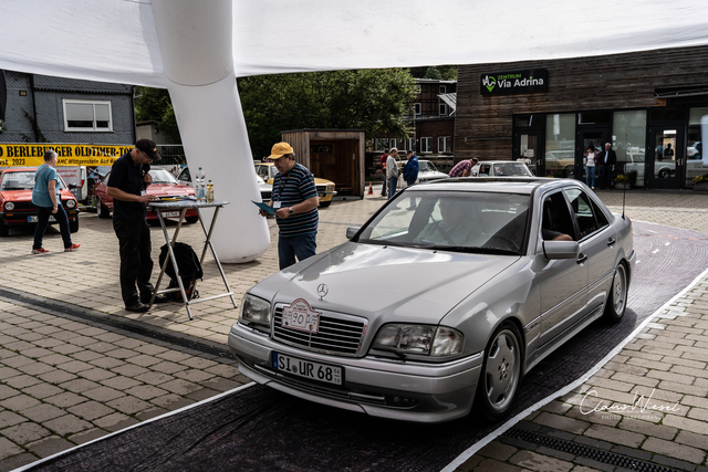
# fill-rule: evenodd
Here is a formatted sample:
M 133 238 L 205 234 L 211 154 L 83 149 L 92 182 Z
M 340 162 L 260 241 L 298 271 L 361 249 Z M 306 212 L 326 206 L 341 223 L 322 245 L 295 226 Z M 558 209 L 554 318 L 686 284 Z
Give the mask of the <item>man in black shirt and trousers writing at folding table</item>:
M 147 195 L 146 189 L 153 182 L 149 165 L 159 158 L 155 143 L 139 139 L 133 150 L 113 164 L 108 177 L 106 191 L 113 197 L 113 229 L 121 245 L 121 293 L 129 312 L 147 312 L 146 303 L 154 290 L 150 230 L 145 216 L 146 203 L 156 197 Z

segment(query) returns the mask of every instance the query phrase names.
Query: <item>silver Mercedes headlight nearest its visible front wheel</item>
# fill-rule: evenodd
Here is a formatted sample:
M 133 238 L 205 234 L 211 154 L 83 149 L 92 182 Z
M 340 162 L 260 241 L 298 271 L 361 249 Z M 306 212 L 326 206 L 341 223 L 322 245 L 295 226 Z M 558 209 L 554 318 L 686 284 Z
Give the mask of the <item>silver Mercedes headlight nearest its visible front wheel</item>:
M 461 353 L 464 340 L 462 333 L 447 326 L 388 324 L 378 331 L 372 347 L 442 357 Z

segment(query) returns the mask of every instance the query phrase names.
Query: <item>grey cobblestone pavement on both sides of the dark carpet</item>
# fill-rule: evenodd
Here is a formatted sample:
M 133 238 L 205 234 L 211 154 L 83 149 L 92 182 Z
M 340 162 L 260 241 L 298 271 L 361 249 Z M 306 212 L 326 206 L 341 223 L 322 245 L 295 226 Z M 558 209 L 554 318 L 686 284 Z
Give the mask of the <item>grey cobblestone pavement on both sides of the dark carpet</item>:
M 385 201 L 374 190 L 363 200 L 335 201 L 320 212 L 319 249 L 345 241 L 347 225 L 363 223 Z M 620 191 L 600 192 L 613 211 Z M 708 195 L 636 191 L 626 193 L 626 213 L 708 232 Z M 61 252 L 55 229 L 48 231 L 45 255 L 30 254 L 32 231 L 12 230 L 0 241 L 0 471 L 33 462 L 75 444 L 181 408 L 248 380 L 221 354 L 238 311 L 229 298 L 194 305 L 189 321 L 181 305 L 157 305 L 146 314 L 123 310 L 117 240 L 110 220 L 82 213 L 74 240 L 79 251 Z M 271 227 L 275 241 L 277 227 Z M 174 228 L 174 227 L 173 227 Z M 164 238 L 152 230 L 153 259 Z M 198 225 L 183 228 L 180 240 L 199 248 Z M 237 300 L 277 271 L 277 248 L 258 261 L 225 264 Z M 204 296 L 223 291 L 207 255 Z M 154 276 L 156 276 L 154 271 Z M 676 301 L 585 385 L 514 427 L 573 444 L 591 444 L 667 466 L 697 470 L 708 449 L 708 281 Z M 196 346 L 196 347 L 195 347 Z M 585 400 L 632 403 L 637 389 L 678 411 L 583 415 Z M 592 406 L 590 407 L 592 408 Z M 493 441 L 459 470 L 612 470 L 606 463 L 518 438 Z M 708 469 L 706 469 L 708 470 Z

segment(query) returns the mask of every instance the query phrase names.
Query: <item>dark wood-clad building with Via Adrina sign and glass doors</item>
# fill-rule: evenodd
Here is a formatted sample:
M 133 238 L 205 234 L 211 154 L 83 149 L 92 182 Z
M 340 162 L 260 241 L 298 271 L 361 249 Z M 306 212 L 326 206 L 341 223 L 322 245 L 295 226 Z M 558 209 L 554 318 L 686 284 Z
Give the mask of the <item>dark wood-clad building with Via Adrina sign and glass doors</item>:
M 708 46 L 462 65 L 457 94 L 456 161 L 584 178 L 589 147 L 611 143 L 614 175 L 636 172 L 636 186 L 687 188 L 708 172 Z

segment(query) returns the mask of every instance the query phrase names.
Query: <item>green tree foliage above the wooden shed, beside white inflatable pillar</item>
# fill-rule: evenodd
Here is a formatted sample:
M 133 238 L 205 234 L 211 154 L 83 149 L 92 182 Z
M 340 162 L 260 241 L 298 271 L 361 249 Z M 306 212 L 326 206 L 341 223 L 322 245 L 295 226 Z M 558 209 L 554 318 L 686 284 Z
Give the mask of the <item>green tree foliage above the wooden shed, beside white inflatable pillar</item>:
M 259 75 L 238 80 L 254 158 L 270 154 L 289 129 L 364 129 L 406 137 L 403 120 L 415 97 L 405 70 Z

